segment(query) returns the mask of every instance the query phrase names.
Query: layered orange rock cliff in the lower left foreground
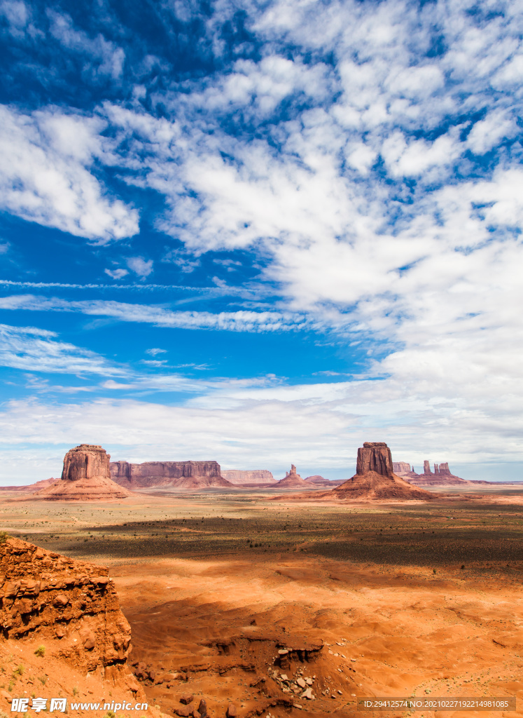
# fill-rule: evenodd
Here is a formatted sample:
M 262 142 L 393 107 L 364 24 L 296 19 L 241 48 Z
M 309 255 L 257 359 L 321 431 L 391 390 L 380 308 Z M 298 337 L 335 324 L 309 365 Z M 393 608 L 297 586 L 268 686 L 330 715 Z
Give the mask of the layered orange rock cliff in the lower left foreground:
M 9 538 L 0 544 L 0 626 L 6 639 L 51 641 L 78 671 L 130 677 L 131 629 L 105 567 Z

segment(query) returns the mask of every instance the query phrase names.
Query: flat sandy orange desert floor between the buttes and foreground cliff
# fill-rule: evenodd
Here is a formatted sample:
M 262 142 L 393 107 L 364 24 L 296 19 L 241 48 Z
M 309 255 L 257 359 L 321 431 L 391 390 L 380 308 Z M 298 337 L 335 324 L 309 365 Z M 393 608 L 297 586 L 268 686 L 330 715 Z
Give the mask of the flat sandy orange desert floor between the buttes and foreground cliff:
M 515 695 L 517 711 L 503 714 L 523 713 L 520 503 L 340 507 L 270 495 L 6 497 L 0 518 L 13 535 L 110 566 L 132 661 L 168 714 L 183 713 L 185 693 L 204 697 L 213 718 L 230 702 L 240 718 L 319 718 L 361 714 L 362 696 L 413 695 Z M 476 714 L 501 715 L 460 713 Z

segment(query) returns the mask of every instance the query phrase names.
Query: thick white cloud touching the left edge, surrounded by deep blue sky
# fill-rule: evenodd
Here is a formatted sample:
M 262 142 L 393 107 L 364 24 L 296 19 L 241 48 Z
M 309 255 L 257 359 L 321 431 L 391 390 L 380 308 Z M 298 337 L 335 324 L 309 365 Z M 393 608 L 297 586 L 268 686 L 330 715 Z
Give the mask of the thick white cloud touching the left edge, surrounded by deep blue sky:
M 0 124 L 1 208 L 100 244 L 136 234 L 136 210 L 106 197 L 88 169 L 98 121 L 0 106 Z

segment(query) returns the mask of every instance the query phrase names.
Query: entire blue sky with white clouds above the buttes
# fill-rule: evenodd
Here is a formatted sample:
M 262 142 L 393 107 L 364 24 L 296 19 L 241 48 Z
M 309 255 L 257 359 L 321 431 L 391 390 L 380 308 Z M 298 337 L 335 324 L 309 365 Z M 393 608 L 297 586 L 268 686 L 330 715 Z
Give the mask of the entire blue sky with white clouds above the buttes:
M 523 479 L 519 1 L 0 2 L 0 480 Z

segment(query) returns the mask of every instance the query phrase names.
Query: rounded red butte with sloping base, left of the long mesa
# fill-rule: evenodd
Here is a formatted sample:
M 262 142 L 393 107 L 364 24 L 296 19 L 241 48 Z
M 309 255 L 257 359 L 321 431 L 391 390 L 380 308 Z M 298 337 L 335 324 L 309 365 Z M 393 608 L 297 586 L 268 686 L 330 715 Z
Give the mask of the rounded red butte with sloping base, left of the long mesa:
M 110 478 L 110 455 L 100 446 L 80 444 L 64 458 L 60 481 L 31 495 L 31 500 L 111 501 L 133 496 Z

